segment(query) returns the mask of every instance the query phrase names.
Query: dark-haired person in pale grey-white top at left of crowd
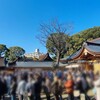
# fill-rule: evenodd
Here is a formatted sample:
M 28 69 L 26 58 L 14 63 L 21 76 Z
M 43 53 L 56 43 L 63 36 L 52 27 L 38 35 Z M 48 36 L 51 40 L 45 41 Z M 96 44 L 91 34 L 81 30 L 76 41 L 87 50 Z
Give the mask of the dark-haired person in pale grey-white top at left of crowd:
M 21 80 L 18 83 L 17 93 L 19 100 L 24 100 L 26 93 L 27 75 L 24 73 L 21 75 Z

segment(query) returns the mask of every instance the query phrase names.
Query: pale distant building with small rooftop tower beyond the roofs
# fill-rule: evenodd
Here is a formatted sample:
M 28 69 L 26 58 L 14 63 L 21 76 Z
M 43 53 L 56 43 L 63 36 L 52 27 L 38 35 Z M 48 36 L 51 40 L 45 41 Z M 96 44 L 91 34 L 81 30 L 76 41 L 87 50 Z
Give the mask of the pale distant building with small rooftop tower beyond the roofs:
M 39 51 L 39 49 L 36 49 L 35 50 L 35 52 L 33 52 L 33 53 L 27 53 L 27 54 L 25 54 L 25 57 L 27 57 L 27 58 L 37 58 L 37 59 L 39 59 L 39 56 L 41 56 L 41 55 L 44 55 L 43 53 L 41 53 L 40 51 Z

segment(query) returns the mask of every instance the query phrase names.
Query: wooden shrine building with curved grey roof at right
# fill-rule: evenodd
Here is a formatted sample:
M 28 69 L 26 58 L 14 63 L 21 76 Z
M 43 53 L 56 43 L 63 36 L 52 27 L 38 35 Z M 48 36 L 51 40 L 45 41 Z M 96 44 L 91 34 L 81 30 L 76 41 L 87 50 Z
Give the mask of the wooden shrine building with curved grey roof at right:
M 100 38 L 83 43 L 81 49 L 69 56 L 67 61 L 80 63 L 86 70 L 100 71 Z

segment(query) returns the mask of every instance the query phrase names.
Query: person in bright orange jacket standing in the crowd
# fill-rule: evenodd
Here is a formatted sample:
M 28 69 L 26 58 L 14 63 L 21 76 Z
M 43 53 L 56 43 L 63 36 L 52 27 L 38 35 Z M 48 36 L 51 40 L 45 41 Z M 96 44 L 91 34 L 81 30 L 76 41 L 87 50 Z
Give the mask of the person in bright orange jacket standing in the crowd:
M 71 73 L 67 74 L 67 81 L 65 82 L 64 86 L 66 89 L 66 93 L 68 94 L 68 100 L 74 100 L 74 95 L 73 95 L 74 81 Z

